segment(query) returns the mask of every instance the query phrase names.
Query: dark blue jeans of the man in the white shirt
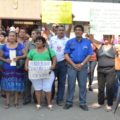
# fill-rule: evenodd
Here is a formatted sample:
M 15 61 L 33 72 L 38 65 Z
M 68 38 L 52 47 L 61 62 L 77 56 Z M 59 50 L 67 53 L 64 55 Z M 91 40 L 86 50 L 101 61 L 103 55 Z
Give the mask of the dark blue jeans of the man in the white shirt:
M 67 73 L 67 65 L 65 61 L 63 60 L 58 62 L 55 69 L 55 76 L 58 78 L 58 91 L 57 91 L 56 102 L 63 101 L 66 73 Z

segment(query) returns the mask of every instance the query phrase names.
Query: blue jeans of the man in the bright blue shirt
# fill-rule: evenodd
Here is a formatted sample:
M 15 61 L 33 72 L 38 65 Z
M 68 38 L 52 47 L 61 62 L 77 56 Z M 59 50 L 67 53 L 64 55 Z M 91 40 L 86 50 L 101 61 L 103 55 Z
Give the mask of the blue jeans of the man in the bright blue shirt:
M 80 105 L 86 105 L 86 83 L 87 83 L 87 64 L 79 71 L 68 65 L 68 91 L 66 104 L 73 104 L 76 78 L 79 85 Z

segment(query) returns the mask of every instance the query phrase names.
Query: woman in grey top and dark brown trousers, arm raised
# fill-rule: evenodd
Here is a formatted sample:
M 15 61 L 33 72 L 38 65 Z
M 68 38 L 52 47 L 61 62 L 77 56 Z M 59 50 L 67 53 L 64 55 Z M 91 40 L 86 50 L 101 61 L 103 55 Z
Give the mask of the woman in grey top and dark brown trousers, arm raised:
M 104 90 L 106 87 L 107 111 L 112 110 L 115 83 L 115 49 L 111 44 L 112 35 L 104 35 L 104 44 L 98 44 L 93 39 L 91 41 L 97 47 L 98 60 L 98 104 L 94 108 L 104 105 Z

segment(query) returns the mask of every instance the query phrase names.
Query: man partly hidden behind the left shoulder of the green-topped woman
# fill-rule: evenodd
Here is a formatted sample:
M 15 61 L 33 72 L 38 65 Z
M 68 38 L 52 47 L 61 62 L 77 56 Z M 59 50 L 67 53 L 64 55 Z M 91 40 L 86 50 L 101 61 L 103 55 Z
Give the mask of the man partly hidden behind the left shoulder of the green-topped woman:
M 34 41 L 35 41 L 36 37 L 38 36 L 37 33 L 38 33 L 38 30 L 36 30 L 36 29 L 31 32 L 32 41 L 29 41 L 26 44 L 26 52 L 27 53 L 31 49 L 35 49 Z M 31 103 L 31 98 L 32 98 L 31 97 L 31 85 L 32 85 L 32 83 L 29 81 L 28 76 L 26 74 L 25 91 L 24 91 L 24 102 L 23 102 L 24 105 Z

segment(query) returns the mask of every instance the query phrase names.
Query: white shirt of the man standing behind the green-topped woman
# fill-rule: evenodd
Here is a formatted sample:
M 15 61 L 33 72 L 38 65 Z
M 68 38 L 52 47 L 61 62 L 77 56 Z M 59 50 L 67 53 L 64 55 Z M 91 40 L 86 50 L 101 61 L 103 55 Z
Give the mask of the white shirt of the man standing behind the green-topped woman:
M 66 36 L 61 39 L 58 36 L 53 36 L 50 39 L 49 45 L 56 53 L 57 62 L 64 60 L 64 49 L 67 41 L 68 38 Z

